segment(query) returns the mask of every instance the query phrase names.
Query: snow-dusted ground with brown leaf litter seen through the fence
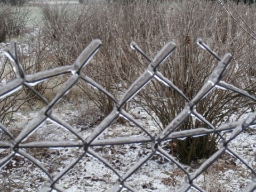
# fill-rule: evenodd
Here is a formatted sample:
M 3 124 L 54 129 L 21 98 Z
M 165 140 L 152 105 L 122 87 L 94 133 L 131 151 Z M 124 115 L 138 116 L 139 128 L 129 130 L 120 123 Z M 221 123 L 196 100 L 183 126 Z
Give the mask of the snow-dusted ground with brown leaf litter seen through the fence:
M 66 105 L 66 110 L 61 110 L 59 108 L 60 106 L 58 106 L 59 111 L 57 111 L 57 114 L 73 125 L 83 138 L 86 138 L 94 130 L 94 126 L 86 127 L 86 119 L 81 119 L 83 114 L 79 114 L 76 110 L 68 110 L 68 108 L 71 108 L 71 105 L 74 104 L 75 103 L 63 103 L 63 105 Z M 79 105 L 81 105 L 81 103 Z M 83 108 L 86 109 L 87 107 L 83 106 Z M 140 111 L 140 114 L 138 111 Z M 86 110 L 82 112 L 86 114 Z M 158 133 L 154 122 L 146 115 L 145 111 L 138 108 L 134 110 L 132 114 L 135 114 L 134 116 L 137 116 L 151 133 Z M 28 113 L 28 111 L 21 111 L 15 114 L 11 125 L 15 125 L 17 129 L 22 129 L 22 127 L 35 116 L 36 111 L 30 113 Z M 76 120 L 79 120 L 79 118 L 81 121 L 78 125 Z M 230 143 L 230 147 L 256 169 L 255 133 L 256 131 L 253 128 L 241 133 L 236 140 Z M 130 135 L 140 135 L 140 132 L 129 122 L 122 124 L 116 123 L 110 126 L 108 130 L 102 134 L 101 138 L 125 137 Z M 225 137 L 228 138 L 229 136 L 230 133 L 225 134 Z M 30 141 L 75 139 L 76 137 L 70 132 L 57 127 L 52 122 L 46 122 L 34 133 L 34 136 L 31 136 Z M 99 155 L 106 158 L 114 165 L 115 169 L 118 170 L 121 175 L 129 170 L 132 165 L 137 163 L 139 159 L 151 152 L 150 143 L 93 147 L 93 150 L 97 151 Z M 79 148 L 27 149 L 27 152 L 37 158 L 49 173 L 56 175 L 71 161 L 81 155 L 82 150 Z M 1 157 L 8 153 L 10 153 L 9 149 L 1 149 Z M 198 161 L 192 166 L 183 166 L 188 172 L 192 173 L 200 163 L 201 162 Z M 17 189 L 12 187 L 12 191 L 38 191 L 48 179 L 38 167 L 18 156 L 3 167 L 0 174 L 4 178 L 0 181 L 0 186 L 12 186 L 15 183 Z M 175 191 L 182 184 L 185 176 L 185 173 L 183 173 L 177 165 L 166 161 L 159 155 L 155 155 L 150 161 L 143 165 L 139 171 L 133 174 L 127 182 L 139 191 Z M 225 154 L 218 162 L 215 162 L 207 172 L 201 174 L 196 179 L 196 183 L 199 186 L 205 186 L 206 191 L 214 189 L 219 189 L 219 191 L 241 191 L 246 183 L 250 182 L 250 176 L 251 172 L 241 162 L 231 155 Z M 113 187 L 117 179 L 118 177 L 103 163 L 98 161 L 98 159 L 85 156 L 60 180 L 59 184 L 67 189 L 67 191 L 108 191 Z

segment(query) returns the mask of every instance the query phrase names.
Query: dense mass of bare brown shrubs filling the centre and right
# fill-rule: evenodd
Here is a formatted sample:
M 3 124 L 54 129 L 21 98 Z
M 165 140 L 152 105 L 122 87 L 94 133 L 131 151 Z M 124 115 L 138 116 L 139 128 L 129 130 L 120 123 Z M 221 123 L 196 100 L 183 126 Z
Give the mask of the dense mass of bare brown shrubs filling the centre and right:
M 92 39 L 99 38 L 103 45 L 84 73 L 119 99 L 148 65 L 146 59 L 130 49 L 131 41 L 135 41 L 150 58 L 154 58 L 165 43 L 174 41 L 177 50 L 160 71 L 188 99 L 192 99 L 217 65 L 217 60 L 196 44 L 199 37 L 220 57 L 227 52 L 233 54 L 226 81 L 254 94 L 256 44 L 251 31 L 256 31 L 255 7 L 237 6 L 235 2 L 226 6 L 234 18 L 218 1 L 136 1 L 125 5 L 112 1 L 78 6 L 42 4 L 43 20 L 36 27 L 38 33 L 31 39 L 38 46 L 34 53 L 37 56 L 33 57 L 36 60 L 31 65 L 42 66 L 44 63 L 43 69 L 47 69 L 71 64 Z M 23 61 L 27 63 L 27 60 Z M 102 114 L 112 110 L 113 102 L 105 95 L 83 82 L 78 86 Z M 39 87 L 38 91 L 42 89 Z M 186 103 L 177 92 L 155 80 L 133 101 L 148 111 L 159 130 L 163 130 Z M 197 104 L 196 110 L 218 126 L 229 121 L 231 114 L 241 115 L 247 109 L 254 110 L 251 106 L 249 100 L 235 93 L 215 90 Z M 129 103 L 126 108 L 129 108 Z M 207 125 L 190 117 L 179 129 L 196 127 Z M 181 162 L 190 163 L 214 153 L 217 141 L 217 135 L 213 134 L 174 140 L 165 147 L 169 147 Z

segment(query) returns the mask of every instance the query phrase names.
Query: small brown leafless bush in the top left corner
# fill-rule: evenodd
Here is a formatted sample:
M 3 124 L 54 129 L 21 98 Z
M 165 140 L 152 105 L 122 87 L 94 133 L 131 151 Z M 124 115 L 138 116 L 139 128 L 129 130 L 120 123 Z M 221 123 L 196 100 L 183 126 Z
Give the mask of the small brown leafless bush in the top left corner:
M 25 7 L 0 4 L 0 43 L 7 37 L 18 37 L 29 20 Z

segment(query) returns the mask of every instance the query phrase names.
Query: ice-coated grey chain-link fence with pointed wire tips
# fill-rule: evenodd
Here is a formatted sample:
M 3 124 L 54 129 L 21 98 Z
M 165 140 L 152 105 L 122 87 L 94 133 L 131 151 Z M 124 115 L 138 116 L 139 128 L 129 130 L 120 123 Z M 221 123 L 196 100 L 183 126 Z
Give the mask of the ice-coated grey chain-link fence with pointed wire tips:
M 47 105 L 43 109 L 41 109 L 37 116 L 32 119 L 21 131 L 21 133 L 14 137 L 13 134 L 2 124 L 0 124 L 0 129 L 6 133 L 7 137 L 10 138 L 10 141 L 1 141 L 0 148 L 8 148 L 12 151 L 9 155 L 3 157 L 0 160 L 0 167 L 5 166 L 7 163 L 11 161 L 11 159 L 18 155 L 21 156 L 39 169 L 41 169 L 49 178 L 44 183 L 42 191 L 65 191 L 62 186 L 57 185 L 57 182 L 67 173 L 69 172 L 81 159 L 87 154 L 97 158 L 103 164 L 105 164 L 108 169 L 113 171 L 114 174 L 118 177 L 114 186 L 109 191 L 121 191 L 122 189 L 126 188 L 130 191 L 138 191 L 133 186 L 129 185 L 126 181 L 143 166 L 153 155 L 161 154 L 163 157 L 169 159 L 171 162 L 176 164 L 186 175 L 186 179 L 183 184 L 180 186 L 178 191 L 188 191 L 190 188 L 195 188 L 199 191 L 204 191 L 201 187 L 199 187 L 195 179 L 201 175 L 209 166 L 211 166 L 214 162 L 217 161 L 221 157 L 225 151 L 235 156 L 239 161 L 241 161 L 251 172 L 252 172 L 252 180 L 248 183 L 247 186 L 243 189 L 243 191 L 253 191 L 256 189 L 256 170 L 253 169 L 249 164 L 247 164 L 241 157 L 239 157 L 228 145 L 232 140 L 234 140 L 239 133 L 244 131 L 246 127 L 256 124 L 256 111 L 252 113 L 249 117 L 247 117 L 244 121 L 236 121 L 231 123 L 221 124 L 218 127 L 214 127 L 210 122 L 208 122 L 201 114 L 198 114 L 195 110 L 195 106 L 199 101 L 201 101 L 206 95 L 211 94 L 211 92 L 217 88 L 221 87 L 222 89 L 227 89 L 239 94 L 244 95 L 256 101 L 256 99 L 247 93 L 244 90 L 238 89 L 237 87 L 228 84 L 222 81 L 223 77 L 225 77 L 228 64 L 231 60 L 231 54 L 227 53 L 223 56 L 223 58 L 219 58 L 218 55 L 213 52 L 207 45 L 205 45 L 201 40 L 198 40 L 198 45 L 201 46 L 206 51 L 210 52 L 218 61 L 218 66 L 215 67 L 212 74 L 210 75 L 208 81 L 203 85 L 202 89 L 195 95 L 195 97 L 189 100 L 185 94 L 182 93 L 181 90 L 178 89 L 169 79 L 165 78 L 159 71 L 158 66 L 164 62 L 164 60 L 169 57 L 169 55 L 175 49 L 175 43 L 170 42 L 167 43 L 161 51 L 158 52 L 154 59 L 150 59 L 140 47 L 132 42 L 131 48 L 137 50 L 141 53 L 148 61 L 149 65 L 148 68 L 144 71 L 144 73 L 130 86 L 129 89 L 122 95 L 121 99 L 118 101 L 116 98 L 113 97 L 109 92 L 107 92 L 104 87 L 99 85 L 95 82 L 92 78 L 82 75 L 81 70 L 84 68 L 87 63 L 91 60 L 93 55 L 97 53 L 101 46 L 101 41 L 96 39 L 92 41 L 86 49 L 79 55 L 73 65 L 70 66 L 63 66 L 58 67 L 55 69 L 50 69 L 47 71 L 41 71 L 36 74 L 26 75 L 22 66 L 18 61 L 18 53 L 17 53 L 17 43 L 12 41 L 9 48 L 5 49 L 5 54 L 10 60 L 13 61 L 13 69 L 17 76 L 17 78 L 13 79 L 11 82 L 6 83 L 5 85 L 0 87 L 0 98 L 5 98 L 7 95 L 21 89 L 22 86 L 28 87 L 31 91 L 36 93 L 42 101 L 45 102 Z M 52 99 L 51 102 L 48 102 L 43 95 L 39 94 L 37 91 L 33 89 L 33 86 L 39 82 L 45 81 L 50 77 L 58 76 L 61 74 L 71 73 L 72 75 L 68 78 L 65 84 L 63 84 L 62 89 L 59 93 Z M 177 91 L 183 99 L 187 101 L 187 105 L 185 108 L 179 113 L 169 125 L 165 127 L 165 129 L 159 133 L 156 137 L 150 134 L 143 125 L 138 122 L 132 115 L 127 113 L 123 106 L 127 101 L 132 99 L 145 85 L 150 83 L 150 81 L 156 78 L 158 81 L 163 82 L 166 86 L 171 87 L 175 91 Z M 86 139 L 82 137 L 81 134 L 76 132 L 75 129 L 71 125 L 69 125 L 66 121 L 61 119 L 57 114 L 54 114 L 52 110 L 53 106 L 63 97 L 63 95 L 67 94 L 68 91 L 73 87 L 78 79 L 82 79 L 83 81 L 87 82 L 93 87 L 96 87 L 100 92 L 106 95 L 106 97 L 110 98 L 114 105 L 113 111 L 105 118 L 101 123 L 95 128 L 95 130 L 87 137 Z M 207 128 L 197 128 L 193 130 L 183 130 L 178 131 L 179 126 L 187 119 L 189 116 L 195 116 L 200 121 L 204 122 L 208 127 Z M 103 131 L 105 131 L 111 124 L 113 124 L 116 119 L 119 117 L 124 117 L 130 122 L 134 123 L 141 129 L 143 132 L 146 133 L 147 136 L 140 136 L 140 137 L 122 137 L 122 138 L 110 138 L 110 139 L 98 139 Z M 61 127 L 69 130 L 77 137 L 77 141 L 33 141 L 28 143 L 22 143 L 25 141 L 31 134 L 33 134 L 39 126 L 41 126 L 46 120 L 50 120 L 55 122 Z M 175 132 L 174 132 L 175 131 Z M 231 137 L 229 139 L 225 139 L 222 137 L 220 132 L 222 131 L 233 131 Z M 196 135 L 206 135 L 216 133 L 219 135 L 221 139 L 221 146 L 219 149 L 209 158 L 207 159 L 199 168 L 193 172 L 188 173 L 186 169 L 167 151 L 161 148 L 161 142 L 164 140 L 171 140 L 171 139 L 178 139 L 178 138 L 186 138 Z M 121 175 L 118 170 L 108 162 L 107 159 L 100 156 L 96 151 L 92 149 L 93 146 L 111 146 L 111 145 L 125 145 L 131 143 L 148 143 L 151 142 L 151 153 L 147 154 L 145 157 L 141 158 L 137 163 L 135 163 L 131 169 L 127 170 L 125 174 Z M 83 150 L 83 153 L 72 162 L 69 163 L 63 170 L 61 170 L 57 175 L 54 177 L 47 172 L 45 167 L 37 161 L 37 159 L 28 153 L 26 153 L 27 148 L 65 148 L 65 147 L 80 147 Z

